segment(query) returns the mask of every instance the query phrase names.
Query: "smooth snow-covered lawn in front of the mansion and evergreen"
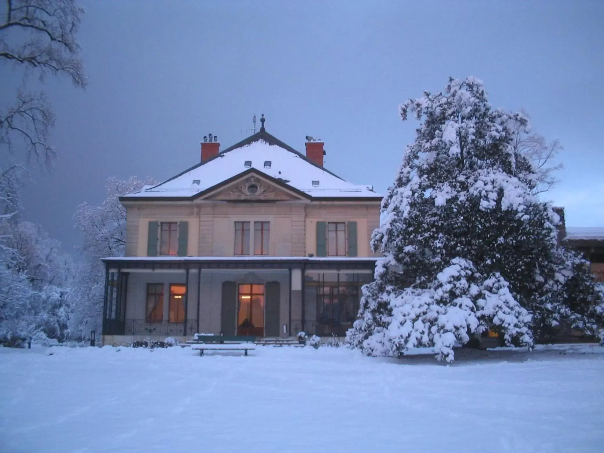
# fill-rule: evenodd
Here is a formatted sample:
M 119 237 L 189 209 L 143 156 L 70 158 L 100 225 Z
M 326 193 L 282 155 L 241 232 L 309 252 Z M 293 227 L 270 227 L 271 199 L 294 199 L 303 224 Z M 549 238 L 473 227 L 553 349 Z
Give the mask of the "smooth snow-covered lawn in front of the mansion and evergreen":
M 0 349 L 0 450 L 602 452 L 602 352 Z

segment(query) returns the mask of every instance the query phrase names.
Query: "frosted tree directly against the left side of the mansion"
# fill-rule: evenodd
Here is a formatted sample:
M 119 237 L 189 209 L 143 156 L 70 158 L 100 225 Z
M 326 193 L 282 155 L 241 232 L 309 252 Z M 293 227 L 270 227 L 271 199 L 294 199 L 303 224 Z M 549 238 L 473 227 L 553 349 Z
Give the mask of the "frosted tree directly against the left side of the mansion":
M 107 198 L 99 206 L 81 204 L 74 214 L 76 230 L 82 233 L 78 247 L 85 262 L 76 269 L 72 299 L 70 330 L 84 338 L 90 330 L 101 327 L 105 271 L 102 258 L 123 256 L 126 245 L 126 208 L 119 197 L 141 190 L 144 185 L 157 184 L 152 178 L 144 180 L 133 176 L 126 181 L 107 180 Z M 76 333 L 77 332 L 77 333 Z

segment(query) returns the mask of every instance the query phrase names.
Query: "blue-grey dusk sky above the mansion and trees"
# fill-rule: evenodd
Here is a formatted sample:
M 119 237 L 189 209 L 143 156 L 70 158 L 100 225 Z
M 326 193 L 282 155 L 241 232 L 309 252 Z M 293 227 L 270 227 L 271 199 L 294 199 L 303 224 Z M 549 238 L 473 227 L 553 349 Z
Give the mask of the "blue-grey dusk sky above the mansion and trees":
M 47 82 L 59 159 L 33 172 L 24 217 L 66 250 L 77 205 L 109 176 L 165 179 L 251 132 L 252 115 L 326 167 L 384 193 L 414 139 L 399 104 L 449 76 L 484 80 L 493 106 L 525 108 L 559 139 L 564 170 L 547 193 L 567 225 L 604 226 L 603 1 L 85 1 L 79 34 L 89 86 Z

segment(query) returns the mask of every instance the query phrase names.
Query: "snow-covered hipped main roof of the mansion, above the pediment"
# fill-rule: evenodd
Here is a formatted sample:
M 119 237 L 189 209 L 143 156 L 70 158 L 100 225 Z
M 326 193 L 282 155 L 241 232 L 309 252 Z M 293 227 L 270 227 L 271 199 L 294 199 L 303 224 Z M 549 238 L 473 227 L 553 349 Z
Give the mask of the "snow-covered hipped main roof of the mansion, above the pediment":
M 191 167 L 180 175 L 125 199 L 190 198 L 254 169 L 310 198 L 374 198 L 382 196 L 368 185 L 355 185 L 310 162 L 306 156 L 262 131 Z

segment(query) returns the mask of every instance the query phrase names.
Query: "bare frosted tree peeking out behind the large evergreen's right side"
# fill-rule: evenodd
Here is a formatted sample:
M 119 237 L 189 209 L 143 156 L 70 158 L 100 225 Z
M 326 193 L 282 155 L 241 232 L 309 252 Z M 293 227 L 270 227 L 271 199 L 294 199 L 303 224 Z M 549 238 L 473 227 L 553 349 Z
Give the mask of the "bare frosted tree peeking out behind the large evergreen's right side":
M 522 114 L 528 118 L 524 110 Z M 513 147 L 532 162 L 537 173 L 533 193 L 547 192 L 559 182 L 556 179 L 556 172 L 562 169 L 562 163 L 554 162 L 558 153 L 564 149 L 559 140 L 548 142 L 543 135 L 528 132 L 524 125 L 517 124 L 514 128 Z

